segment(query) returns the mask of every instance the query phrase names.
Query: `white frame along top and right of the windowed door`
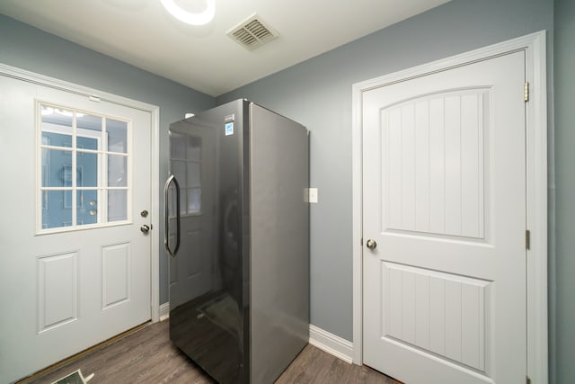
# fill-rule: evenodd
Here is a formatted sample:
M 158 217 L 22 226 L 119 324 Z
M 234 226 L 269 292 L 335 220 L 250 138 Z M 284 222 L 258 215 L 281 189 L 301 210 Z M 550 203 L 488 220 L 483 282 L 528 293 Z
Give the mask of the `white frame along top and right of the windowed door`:
M 159 180 L 160 180 L 160 107 L 138 102 L 137 100 L 128 99 L 117 94 L 109 94 L 106 92 L 98 91 L 83 85 L 75 85 L 54 77 L 43 76 L 34 72 L 26 71 L 18 67 L 10 67 L 0 63 L 0 75 L 8 76 L 18 80 L 26 81 L 29 83 L 49 86 L 60 91 L 65 91 L 71 94 L 80 94 L 89 97 L 94 102 L 106 101 L 109 103 L 119 104 L 128 108 L 137 109 L 144 112 L 150 112 L 152 121 L 152 137 L 151 147 L 152 153 L 150 161 L 150 185 L 152 188 L 150 199 L 150 216 L 152 228 L 157 228 L 151 237 L 151 255 L 150 255 L 150 308 L 152 312 L 152 321 L 157 322 L 160 320 L 160 266 L 159 266 L 159 230 L 160 230 L 160 199 L 159 199 Z

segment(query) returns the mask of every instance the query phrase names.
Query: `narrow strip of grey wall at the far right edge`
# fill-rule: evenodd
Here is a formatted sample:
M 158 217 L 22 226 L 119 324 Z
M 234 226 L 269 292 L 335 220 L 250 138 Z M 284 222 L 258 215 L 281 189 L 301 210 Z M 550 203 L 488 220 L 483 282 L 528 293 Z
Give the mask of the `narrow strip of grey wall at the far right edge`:
M 551 365 L 556 366 L 555 381 L 575 383 L 575 2 L 555 0 L 555 164 L 556 164 L 556 290 Z M 553 110 L 552 110 L 553 111 Z

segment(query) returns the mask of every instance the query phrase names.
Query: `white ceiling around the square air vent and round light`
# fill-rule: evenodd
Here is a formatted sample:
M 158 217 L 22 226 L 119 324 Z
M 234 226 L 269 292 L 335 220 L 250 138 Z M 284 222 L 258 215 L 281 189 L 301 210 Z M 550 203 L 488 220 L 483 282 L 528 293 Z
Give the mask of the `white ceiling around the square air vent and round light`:
M 201 27 L 174 19 L 159 0 L 0 0 L 0 13 L 217 96 L 447 1 L 216 0 L 215 19 Z M 253 13 L 279 38 L 250 51 L 226 32 Z

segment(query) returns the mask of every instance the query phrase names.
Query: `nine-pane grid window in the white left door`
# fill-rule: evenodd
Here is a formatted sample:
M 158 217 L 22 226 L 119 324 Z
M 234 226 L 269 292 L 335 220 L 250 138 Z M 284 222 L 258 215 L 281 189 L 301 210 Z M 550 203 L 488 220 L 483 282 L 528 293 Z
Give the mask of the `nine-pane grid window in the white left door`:
M 39 103 L 41 231 L 131 219 L 129 121 Z

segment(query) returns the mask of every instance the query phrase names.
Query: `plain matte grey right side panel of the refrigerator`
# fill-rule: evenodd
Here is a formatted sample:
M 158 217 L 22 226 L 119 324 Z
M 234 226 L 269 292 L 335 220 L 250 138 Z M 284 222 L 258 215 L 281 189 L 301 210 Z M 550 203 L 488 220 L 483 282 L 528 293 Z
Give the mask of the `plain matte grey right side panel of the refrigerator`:
M 251 104 L 252 382 L 271 383 L 309 339 L 307 130 Z

